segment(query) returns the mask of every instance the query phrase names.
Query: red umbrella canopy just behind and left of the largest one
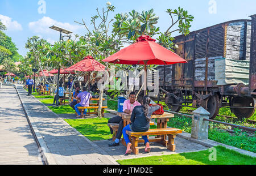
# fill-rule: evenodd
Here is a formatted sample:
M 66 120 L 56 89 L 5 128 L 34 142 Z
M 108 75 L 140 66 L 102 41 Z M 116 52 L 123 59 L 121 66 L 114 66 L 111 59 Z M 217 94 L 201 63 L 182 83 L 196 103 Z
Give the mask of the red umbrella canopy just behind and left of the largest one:
M 65 69 L 66 71 L 105 71 L 105 66 L 88 55 L 82 61 Z

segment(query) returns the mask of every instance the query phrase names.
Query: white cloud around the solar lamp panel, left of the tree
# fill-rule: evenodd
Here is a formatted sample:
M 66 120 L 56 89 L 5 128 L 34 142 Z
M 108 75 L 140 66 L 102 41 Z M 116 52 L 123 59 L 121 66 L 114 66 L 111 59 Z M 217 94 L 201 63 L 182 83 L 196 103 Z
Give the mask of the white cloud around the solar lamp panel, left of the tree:
M 69 31 L 72 31 L 74 33 L 82 28 L 81 25 L 73 25 L 70 23 L 57 22 L 56 20 L 53 20 L 47 16 L 44 16 L 42 19 L 39 19 L 36 22 L 30 22 L 28 24 L 28 27 L 30 28 L 31 31 L 35 33 L 53 34 L 54 30 L 49 28 L 52 25 L 57 25 L 64 29 L 68 29 Z

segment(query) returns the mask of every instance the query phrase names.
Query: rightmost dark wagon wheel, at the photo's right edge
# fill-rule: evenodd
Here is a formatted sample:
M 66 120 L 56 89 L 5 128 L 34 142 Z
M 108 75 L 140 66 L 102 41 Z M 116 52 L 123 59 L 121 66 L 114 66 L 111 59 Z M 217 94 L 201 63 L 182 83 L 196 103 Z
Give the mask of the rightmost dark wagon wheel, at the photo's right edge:
M 255 99 L 251 97 L 233 97 L 231 106 L 244 106 L 254 108 L 230 108 L 237 118 L 250 118 L 255 111 Z

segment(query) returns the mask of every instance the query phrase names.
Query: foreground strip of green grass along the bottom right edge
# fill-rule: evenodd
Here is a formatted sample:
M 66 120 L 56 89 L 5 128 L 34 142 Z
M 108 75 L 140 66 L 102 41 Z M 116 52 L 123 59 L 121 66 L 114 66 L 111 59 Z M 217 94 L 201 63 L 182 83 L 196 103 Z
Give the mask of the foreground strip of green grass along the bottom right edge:
M 216 149 L 216 161 L 210 161 L 213 151 L 179 153 L 162 156 L 117 160 L 121 165 L 255 165 L 256 158 L 245 156 L 222 146 Z M 210 156 L 210 157 L 209 157 Z M 212 160 L 212 159 L 211 159 Z

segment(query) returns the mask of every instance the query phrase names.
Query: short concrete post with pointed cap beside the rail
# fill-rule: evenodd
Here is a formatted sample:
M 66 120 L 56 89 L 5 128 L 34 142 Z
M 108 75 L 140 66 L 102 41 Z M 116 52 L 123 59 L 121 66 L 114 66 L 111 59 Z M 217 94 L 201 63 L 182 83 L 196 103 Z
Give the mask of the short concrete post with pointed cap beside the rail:
M 192 129 L 191 137 L 198 140 L 207 140 L 208 139 L 208 123 L 209 121 L 204 121 L 209 119 L 210 113 L 205 110 L 203 107 L 200 107 L 193 111 L 192 116 Z

